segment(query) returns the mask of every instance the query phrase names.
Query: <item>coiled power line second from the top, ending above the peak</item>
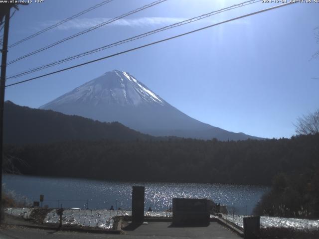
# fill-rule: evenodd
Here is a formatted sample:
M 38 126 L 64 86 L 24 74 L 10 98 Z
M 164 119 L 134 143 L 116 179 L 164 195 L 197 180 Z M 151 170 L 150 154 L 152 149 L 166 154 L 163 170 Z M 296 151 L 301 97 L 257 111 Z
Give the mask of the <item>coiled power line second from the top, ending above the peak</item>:
M 52 44 L 50 44 L 50 45 L 47 45 L 47 46 L 42 47 L 42 48 L 40 48 L 40 49 L 38 49 L 38 50 L 35 50 L 35 51 L 31 52 L 31 53 L 28 53 L 28 54 L 26 54 L 26 55 L 24 55 L 24 56 L 21 56 L 21 57 L 15 59 L 15 60 L 12 60 L 12 61 L 10 61 L 9 63 L 7 63 L 7 65 L 10 65 L 10 64 L 12 64 L 12 63 L 14 63 L 14 62 L 17 62 L 17 61 L 19 61 L 19 60 L 21 60 L 21 59 L 23 59 L 23 58 L 25 58 L 25 57 L 34 55 L 34 54 L 36 54 L 36 53 L 38 53 L 38 52 L 44 51 L 44 50 L 46 50 L 46 49 L 49 49 L 49 48 L 51 48 L 51 47 L 53 47 L 53 46 L 56 46 L 56 45 L 58 45 L 58 44 L 60 44 L 60 43 L 62 43 L 62 42 L 64 42 L 64 41 L 70 40 L 70 39 L 72 39 L 72 38 L 74 38 L 74 37 L 80 36 L 80 35 L 82 35 L 82 34 L 85 34 L 85 33 L 89 32 L 89 31 L 95 30 L 95 29 L 97 29 L 97 28 L 99 28 L 99 27 L 101 27 L 101 26 L 104 26 L 104 25 L 106 25 L 106 24 L 112 23 L 112 22 L 114 22 L 114 21 L 116 21 L 116 20 L 118 20 L 118 19 L 121 19 L 121 18 L 123 18 L 123 17 L 126 17 L 126 16 L 128 16 L 128 15 L 134 14 L 134 13 L 136 13 L 136 12 L 138 12 L 138 11 L 142 11 L 142 10 L 148 8 L 148 7 L 154 6 L 154 5 L 159 4 L 159 3 L 163 2 L 163 1 L 166 1 L 166 0 L 157 0 L 157 1 L 154 1 L 154 2 L 152 2 L 152 3 L 150 3 L 150 4 L 147 4 L 147 5 L 144 5 L 144 6 L 142 6 L 142 7 L 139 7 L 139 8 L 137 8 L 137 9 L 135 9 L 135 10 L 132 10 L 132 11 L 130 11 L 130 12 L 127 12 L 127 13 L 125 13 L 125 14 L 122 14 L 122 15 L 120 15 L 120 16 L 117 16 L 117 17 L 115 17 L 115 18 L 112 18 L 112 19 L 110 19 L 110 20 L 108 20 L 108 21 L 104 21 L 104 22 L 102 22 L 102 23 L 100 23 L 100 24 L 98 24 L 98 25 L 92 26 L 92 27 L 90 27 L 90 28 L 88 28 L 88 29 L 85 29 L 85 30 L 83 30 L 83 31 L 80 31 L 80 32 L 78 32 L 78 33 L 76 33 L 76 34 L 74 34 L 74 35 L 71 35 L 71 36 L 68 36 L 68 37 L 66 37 L 66 38 L 63 38 L 62 40 L 56 41 L 56 42 L 54 42 L 54 43 L 52 43 Z

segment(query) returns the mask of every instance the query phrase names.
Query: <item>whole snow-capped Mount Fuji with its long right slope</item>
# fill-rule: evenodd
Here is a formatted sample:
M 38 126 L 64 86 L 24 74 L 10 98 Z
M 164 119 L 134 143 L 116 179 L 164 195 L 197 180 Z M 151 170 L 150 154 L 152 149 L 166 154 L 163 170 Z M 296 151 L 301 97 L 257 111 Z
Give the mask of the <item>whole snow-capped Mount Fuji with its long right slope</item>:
M 99 121 L 119 121 L 155 136 L 199 139 L 261 139 L 234 133 L 193 119 L 125 71 L 113 70 L 40 107 Z

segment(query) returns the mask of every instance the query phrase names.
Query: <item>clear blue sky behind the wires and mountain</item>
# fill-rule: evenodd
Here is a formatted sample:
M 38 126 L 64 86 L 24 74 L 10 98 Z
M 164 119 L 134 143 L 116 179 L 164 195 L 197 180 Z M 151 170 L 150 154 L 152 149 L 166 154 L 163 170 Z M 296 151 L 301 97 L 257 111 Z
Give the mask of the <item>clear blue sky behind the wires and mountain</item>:
M 20 6 L 9 44 L 102 0 L 44 0 Z M 113 0 L 8 52 L 8 61 L 152 0 Z M 7 76 L 218 10 L 240 0 L 167 0 L 7 67 Z M 254 3 L 26 75 L 25 80 L 274 4 Z M 37 108 L 113 69 L 130 72 L 185 114 L 234 132 L 290 137 L 297 117 L 319 109 L 319 3 L 296 3 L 90 65 L 6 88 L 5 99 Z M 317 30 L 318 32 L 318 30 Z M 316 79 L 317 78 L 317 79 Z

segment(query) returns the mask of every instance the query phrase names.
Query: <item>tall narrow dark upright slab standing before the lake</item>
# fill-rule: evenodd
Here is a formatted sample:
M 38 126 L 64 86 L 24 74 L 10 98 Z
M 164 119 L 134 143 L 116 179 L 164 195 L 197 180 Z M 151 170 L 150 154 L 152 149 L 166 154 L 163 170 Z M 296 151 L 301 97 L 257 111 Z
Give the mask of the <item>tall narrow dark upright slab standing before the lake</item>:
M 133 186 L 132 223 L 143 223 L 144 221 L 144 197 L 145 187 Z

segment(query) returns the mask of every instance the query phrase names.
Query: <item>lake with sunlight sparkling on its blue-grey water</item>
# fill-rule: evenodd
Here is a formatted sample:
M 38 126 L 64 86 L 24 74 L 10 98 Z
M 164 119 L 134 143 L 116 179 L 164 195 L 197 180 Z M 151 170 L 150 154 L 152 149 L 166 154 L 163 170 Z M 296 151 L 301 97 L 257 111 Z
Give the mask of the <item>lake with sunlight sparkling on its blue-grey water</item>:
M 110 209 L 132 208 L 132 186 L 145 186 L 145 209 L 163 211 L 171 207 L 172 198 L 209 198 L 226 205 L 229 214 L 249 215 L 269 190 L 263 186 L 199 184 L 199 183 L 146 183 L 96 181 L 87 179 L 49 178 L 3 175 L 3 190 L 15 195 L 21 202 L 39 201 L 56 208 Z

